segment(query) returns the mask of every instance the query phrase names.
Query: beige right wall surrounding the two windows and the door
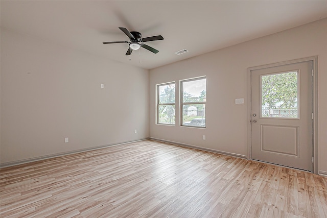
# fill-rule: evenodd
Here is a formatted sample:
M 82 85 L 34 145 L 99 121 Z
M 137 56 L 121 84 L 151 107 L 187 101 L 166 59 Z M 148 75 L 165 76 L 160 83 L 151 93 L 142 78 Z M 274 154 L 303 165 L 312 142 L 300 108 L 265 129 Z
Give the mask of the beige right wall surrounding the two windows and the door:
M 327 172 L 326 39 L 327 19 L 323 19 L 150 70 L 150 137 L 246 156 L 247 68 L 317 55 L 318 169 Z M 186 49 L 192 52 L 192 48 Z M 204 75 L 207 77 L 206 129 L 156 125 L 155 85 Z M 244 98 L 244 104 L 235 104 L 237 98 Z M 206 135 L 206 140 L 202 140 L 202 135 Z

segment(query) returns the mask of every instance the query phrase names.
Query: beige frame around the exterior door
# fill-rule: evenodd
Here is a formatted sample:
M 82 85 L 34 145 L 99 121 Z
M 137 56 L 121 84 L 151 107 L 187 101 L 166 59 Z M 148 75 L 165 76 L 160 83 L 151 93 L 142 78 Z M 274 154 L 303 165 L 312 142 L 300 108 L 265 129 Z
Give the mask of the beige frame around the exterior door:
M 318 174 L 318 56 L 308 58 L 295 59 L 290 61 L 277 62 L 261 66 L 247 68 L 247 159 L 252 159 L 251 151 L 251 71 L 256 69 L 264 69 L 268 67 L 276 67 L 299 62 L 312 61 L 313 63 L 313 173 Z

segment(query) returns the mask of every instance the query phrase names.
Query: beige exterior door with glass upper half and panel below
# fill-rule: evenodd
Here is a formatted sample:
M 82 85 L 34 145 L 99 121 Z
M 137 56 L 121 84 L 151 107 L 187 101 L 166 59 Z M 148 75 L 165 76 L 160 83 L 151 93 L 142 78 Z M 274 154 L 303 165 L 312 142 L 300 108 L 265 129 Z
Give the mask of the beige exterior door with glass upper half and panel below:
M 251 70 L 251 156 L 313 170 L 312 61 Z

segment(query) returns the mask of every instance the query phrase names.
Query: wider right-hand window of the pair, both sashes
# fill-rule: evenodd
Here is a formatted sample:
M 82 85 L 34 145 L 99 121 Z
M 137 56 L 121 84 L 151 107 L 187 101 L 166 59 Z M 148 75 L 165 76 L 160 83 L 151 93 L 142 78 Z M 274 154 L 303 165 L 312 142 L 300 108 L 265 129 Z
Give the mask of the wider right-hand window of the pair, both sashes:
M 206 78 L 183 80 L 180 87 L 182 126 L 205 128 Z

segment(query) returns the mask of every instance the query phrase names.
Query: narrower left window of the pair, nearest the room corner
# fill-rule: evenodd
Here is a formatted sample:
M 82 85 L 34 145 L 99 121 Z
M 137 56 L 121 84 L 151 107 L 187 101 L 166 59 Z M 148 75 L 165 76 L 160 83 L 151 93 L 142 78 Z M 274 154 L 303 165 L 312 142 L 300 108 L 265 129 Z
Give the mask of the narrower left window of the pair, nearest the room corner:
M 157 124 L 175 125 L 175 82 L 157 85 Z

